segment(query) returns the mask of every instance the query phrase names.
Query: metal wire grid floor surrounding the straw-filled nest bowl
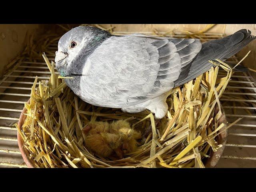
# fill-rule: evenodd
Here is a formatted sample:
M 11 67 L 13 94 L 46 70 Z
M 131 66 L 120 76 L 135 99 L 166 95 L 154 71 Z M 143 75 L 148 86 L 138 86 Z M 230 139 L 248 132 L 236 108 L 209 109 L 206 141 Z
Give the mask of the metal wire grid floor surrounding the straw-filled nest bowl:
M 139 32 L 138 32 L 139 33 Z M 114 34 L 126 34 L 115 32 Z M 152 34 L 152 33 L 147 33 Z M 164 34 L 164 33 L 160 33 Z M 184 38 L 187 34 L 176 33 L 174 38 Z M 202 42 L 222 38 L 223 34 L 205 33 L 200 36 Z M 58 41 L 42 50 L 49 60 L 54 61 Z M 232 57 L 230 62 L 237 62 Z M 222 74 L 220 74 L 221 76 Z M 30 98 L 34 78 L 48 79 L 50 72 L 43 58 L 26 57 L 17 62 L 12 70 L 0 80 L 0 167 L 26 167 L 18 148 L 17 130 L 14 124 L 18 121 L 24 103 Z M 224 95 L 221 98 L 228 122 L 244 117 L 228 131 L 228 142 L 217 167 L 256 167 L 256 86 L 247 72 L 236 72 L 232 76 Z

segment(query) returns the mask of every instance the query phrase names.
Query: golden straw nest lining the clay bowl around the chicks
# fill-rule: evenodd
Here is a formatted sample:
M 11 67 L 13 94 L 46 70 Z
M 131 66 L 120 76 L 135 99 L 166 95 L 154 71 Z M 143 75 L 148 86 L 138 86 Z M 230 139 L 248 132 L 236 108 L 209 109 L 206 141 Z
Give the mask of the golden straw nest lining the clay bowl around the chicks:
M 49 80 L 36 78 L 30 102 L 25 104 L 26 120 L 20 128 L 16 125 L 29 158 L 36 167 L 88 168 L 88 167 L 204 167 L 204 159 L 216 151 L 216 136 L 224 128 L 219 122 L 222 115 L 219 98 L 233 73 L 218 60 L 215 67 L 196 79 L 176 87 L 166 102 L 168 113 L 155 124 L 154 116 L 145 110 L 136 114 L 123 113 L 120 109 L 92 106 L 78 98 L 61 77 L 54 73 L 54 62 L 46 55 L 44 60 L 51 72 Z M 240 62 L 239 62 L 240 63 Z M 226 76 L 218 78 L 218 70 Z M 90 121 L 126 119 L 132 128 L 152 132 L 135 152 L 123 159 L 101 157 L 90 151 L 81 130 Z M 220 131 L 221 130 L 221 131 Z

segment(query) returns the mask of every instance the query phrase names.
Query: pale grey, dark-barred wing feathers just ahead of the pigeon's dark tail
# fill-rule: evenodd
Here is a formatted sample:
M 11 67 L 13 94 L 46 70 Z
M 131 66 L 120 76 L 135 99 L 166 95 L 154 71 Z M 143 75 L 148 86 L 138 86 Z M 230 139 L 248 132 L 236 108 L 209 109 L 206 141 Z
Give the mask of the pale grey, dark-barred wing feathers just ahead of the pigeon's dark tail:
M 182 68 L 188 67 L 201 49 L 199 39 L 161 39 L 152 45 L 158 48 L 158 64 L 160 65 L 154 88 L 148 94 L 154 97 L 163 94 L 174 86 Z

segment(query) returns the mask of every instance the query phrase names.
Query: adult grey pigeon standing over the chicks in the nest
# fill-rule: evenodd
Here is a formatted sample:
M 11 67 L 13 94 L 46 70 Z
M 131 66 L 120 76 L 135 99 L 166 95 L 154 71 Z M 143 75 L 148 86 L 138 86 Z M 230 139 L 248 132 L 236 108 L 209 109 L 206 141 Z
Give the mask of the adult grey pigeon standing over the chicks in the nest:
M 56 68 L 82 100 L 95 106 L 145 109 L 163 118 L 166 98 L 180 86 L 209 70 L 208 60 L 230 58 L 255 39 L 246 29 L 201 44 L 199 39 L 129 34 L 79 26 L 58 42 Z

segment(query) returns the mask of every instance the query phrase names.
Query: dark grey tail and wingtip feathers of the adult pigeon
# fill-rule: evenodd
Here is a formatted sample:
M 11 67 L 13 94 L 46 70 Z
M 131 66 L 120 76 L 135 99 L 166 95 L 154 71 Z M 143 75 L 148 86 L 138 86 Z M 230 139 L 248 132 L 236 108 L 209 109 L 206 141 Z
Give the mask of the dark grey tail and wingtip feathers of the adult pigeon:
M 202 49 L 190 63 L 190 69 L 187 70 L 187 74 L 181 74 L 178 80 L 174 82 L 175 87 L 189 82 L 209 70 L 212 64 L 208 60 L 220 59 L 224 61 L 239 52 L 255 39 L 250 34 L 249 30 L 242 29 L 226 38 L 203 43 Z

